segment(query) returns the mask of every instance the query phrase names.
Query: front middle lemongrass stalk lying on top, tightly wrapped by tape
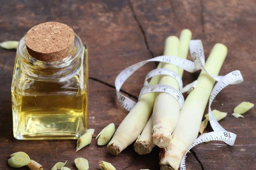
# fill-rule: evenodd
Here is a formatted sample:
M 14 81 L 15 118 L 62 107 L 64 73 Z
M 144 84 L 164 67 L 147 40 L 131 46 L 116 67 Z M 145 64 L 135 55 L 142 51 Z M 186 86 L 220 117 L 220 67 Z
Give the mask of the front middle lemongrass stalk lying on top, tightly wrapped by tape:
M 177 56 L 179 49 L 179 39 L 170 36 L 166 39 L 165 54 Z M 178 72 L 178 67 L 165 63 L 163 68 L 171 69 Z M 170 85 L 179 89 L 177 81 L 170 76 L 162 76 L 159 84 Z M 169 146 L 172 139 L 172 132 L 175 129 L 179 118 L 180 105 L 177 100 L 166 93 L 157 93 L 153 109 L 153 142 L 158 147 Z

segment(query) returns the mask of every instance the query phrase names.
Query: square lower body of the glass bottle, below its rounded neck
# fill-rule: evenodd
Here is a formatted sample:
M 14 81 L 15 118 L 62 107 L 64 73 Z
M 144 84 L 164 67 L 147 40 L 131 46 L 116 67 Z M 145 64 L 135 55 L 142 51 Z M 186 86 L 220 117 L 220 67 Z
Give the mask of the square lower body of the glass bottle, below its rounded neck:
M 14 137 L 77 139 L 84 134 L 88 81 L 84 71 L 61 81 L 36 80 L 25 71 L 17 60 L 12 83 Z

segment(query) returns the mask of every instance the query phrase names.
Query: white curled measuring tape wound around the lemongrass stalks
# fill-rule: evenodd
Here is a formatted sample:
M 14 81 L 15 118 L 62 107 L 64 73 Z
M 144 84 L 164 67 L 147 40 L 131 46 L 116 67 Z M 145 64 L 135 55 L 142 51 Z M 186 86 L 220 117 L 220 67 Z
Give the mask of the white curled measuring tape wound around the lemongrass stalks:
M 138 62 L 137 64 L 131 65 L 128 68 L 125 68 L 121 73 L 118 74 L 115 80 L 115 86 L 116 86 L 116 95 L 118 97 L 119 103 L 124 107 L 126 110 L 131 111 L 132 108 L 136 105 L 136 102 L 128 98 L 127 96 L 121 94 L 119 91 L 123 85 L 123 83 L 128 79 L 135 71 L 137 71 L 139 68 L 141 68 L 143 65 L 145 65 L 148 62 L 157 61 L 157 62 L 166 62 L 173 65 L 176 65 L 180 68 L 183 68 L 184 70 L 193 73 L 198 70 L 202 70 L 207 72 L 207 70 L 204 67 L 205 59 L 204 59 L 204 48 L 202 45 L 201 40 L 191 40 L 189 43 L 189 51 L 191 54 L 191 57 L 194 62 L 188 60 L 188 59 L 182 59 L 175 56 L 159 56 L 154 57 L 152 59 L 148 59 L 142 62 Z M 209 74 L 207 72 L 207 74 Z M 148 85 L 148 79 L 150 79 L 153 76 L 156 75 L 168 75 L 178 82 L 179 89 L 176 89 L 169 85 Z M 189 147 L 189 149 L 186 151 L 186 153 L 189 152 L 189 150 L 194 147 L 197 144 L 200 144 L 202 142 L 206 141 L 223 141 L 229 145 L 233 145 L 236 140 L 236 134 L 227 132 L 221 125 L 218 123 L 218 121 L 215 119 L 215 117 L 212 114 L 211 110 L 211 104 L 215 96 L 227 85 L 230 84 L 237 84 L 243 81 L 243 77 L 241 76 L 240 71 L 232 71 L 229 74 L 225 76 L 213 76 L 209 74 L 210 77 L 215 79 L 217 81 L 216 85 L 214 86 L 210 98 L 209 98 L 209 121 L 212 126 L 212 129 L 214 132 L 210 132 L 207 134 L 204 134 L 200 137 L 198 137 Z M 189 85 L 183 87 L 182 79 L 180 76 L 172 70 L 166 69 L 166 68 L 157 68 L 152 71 L 150 71 L 144 82 L 144 87 L 140 91 L 140 96 L 147 93 L 153 93 L 153 92 L 163 92 L 172 95 L 179 103 L 180 108 L 182 107 L 184 103 L 184 97 L 182 93 L 186 91 L 190 91 L 191 89 L 195 88 L 197 84 L 197 81 L 190 83 Z M 180 170 L 186 170 L 185 166 L 185 160 L 186 160 L 186 154 L 183 157 L 181 164 L 180 164 Z

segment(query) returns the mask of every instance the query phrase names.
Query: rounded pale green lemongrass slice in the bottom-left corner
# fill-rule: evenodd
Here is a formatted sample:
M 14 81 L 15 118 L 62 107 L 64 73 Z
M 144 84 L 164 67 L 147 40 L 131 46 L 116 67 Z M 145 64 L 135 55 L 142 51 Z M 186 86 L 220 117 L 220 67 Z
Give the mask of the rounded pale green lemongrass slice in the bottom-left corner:
M 11 158 L 8 159 L 10 167 L 23 167 L 31 162 L 31 159 L 25 152 L 12 153 L 10 156 Z

